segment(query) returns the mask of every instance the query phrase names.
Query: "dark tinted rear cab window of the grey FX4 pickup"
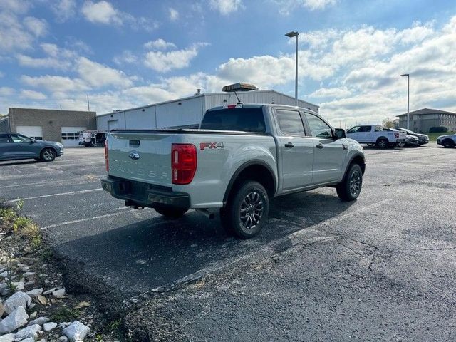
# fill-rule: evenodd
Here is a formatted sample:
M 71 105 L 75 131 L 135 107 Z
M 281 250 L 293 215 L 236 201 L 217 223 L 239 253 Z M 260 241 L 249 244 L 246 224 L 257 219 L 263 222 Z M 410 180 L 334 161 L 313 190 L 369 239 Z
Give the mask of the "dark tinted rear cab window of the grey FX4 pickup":
M 222 108 L 207 110 L 200 129 L 264 133 L 266 132 L 266 125 L 261 107 Z

